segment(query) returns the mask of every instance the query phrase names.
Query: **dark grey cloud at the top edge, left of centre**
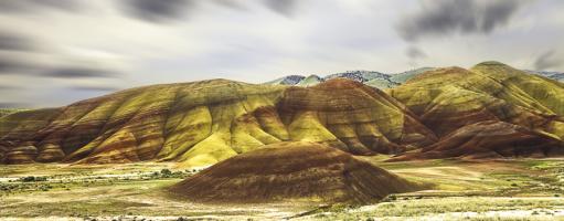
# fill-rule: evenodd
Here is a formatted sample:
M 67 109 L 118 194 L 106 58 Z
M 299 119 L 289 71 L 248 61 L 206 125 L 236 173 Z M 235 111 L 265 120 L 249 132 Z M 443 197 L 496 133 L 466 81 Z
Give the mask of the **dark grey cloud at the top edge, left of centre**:
M 124 0 L 124 3 L 129 15 L 150 22 L 180 19 L 195 4 L 194 0 Z

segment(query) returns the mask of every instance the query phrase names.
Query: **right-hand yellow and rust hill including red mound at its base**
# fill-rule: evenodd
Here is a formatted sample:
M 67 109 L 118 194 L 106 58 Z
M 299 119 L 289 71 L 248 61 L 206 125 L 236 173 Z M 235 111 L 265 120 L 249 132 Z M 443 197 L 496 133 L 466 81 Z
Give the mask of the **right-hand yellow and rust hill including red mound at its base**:
M 555 81 L 485 62 L 426 72 L 390 95 L 439 137 L 398 159 L 563 152 L 564 84 Z

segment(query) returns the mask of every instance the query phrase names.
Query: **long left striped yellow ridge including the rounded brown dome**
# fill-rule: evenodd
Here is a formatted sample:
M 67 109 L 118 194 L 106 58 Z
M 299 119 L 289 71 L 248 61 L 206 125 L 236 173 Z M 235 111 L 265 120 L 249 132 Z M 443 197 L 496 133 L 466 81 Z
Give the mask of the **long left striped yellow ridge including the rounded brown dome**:
M 436 138 L 385 93 L 342 78 L 311 87 L 225 80 L 153 85 L 0 118 L 4 164 L 171 160 L 191 167 L 284 140 L 373 154 Z

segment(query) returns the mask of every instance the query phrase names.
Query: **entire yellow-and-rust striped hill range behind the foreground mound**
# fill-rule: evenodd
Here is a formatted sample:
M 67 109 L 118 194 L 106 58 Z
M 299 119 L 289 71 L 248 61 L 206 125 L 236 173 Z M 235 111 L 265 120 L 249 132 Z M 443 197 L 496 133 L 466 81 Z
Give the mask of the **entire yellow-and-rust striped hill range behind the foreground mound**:
M 386 92 L 341 75 L 306 77 L 307 87 L 211 80 L 18 112 L 0 118 L 0 161 L 196 167 L 283 141 L 396 160 L 563 152 L 557 81 L 498 62 L 406 75 Z

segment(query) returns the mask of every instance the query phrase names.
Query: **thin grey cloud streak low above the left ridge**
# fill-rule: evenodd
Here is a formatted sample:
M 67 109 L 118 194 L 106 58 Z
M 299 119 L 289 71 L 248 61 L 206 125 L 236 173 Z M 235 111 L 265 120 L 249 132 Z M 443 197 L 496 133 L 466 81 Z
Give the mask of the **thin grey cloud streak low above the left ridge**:
M 44 73 L 44 76 L 57 78 L 89 78 L 89 77 L 117 77 L 118 74 L 106 70 L 65 67 L 47 71 Z

